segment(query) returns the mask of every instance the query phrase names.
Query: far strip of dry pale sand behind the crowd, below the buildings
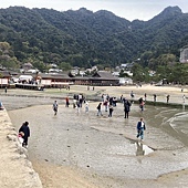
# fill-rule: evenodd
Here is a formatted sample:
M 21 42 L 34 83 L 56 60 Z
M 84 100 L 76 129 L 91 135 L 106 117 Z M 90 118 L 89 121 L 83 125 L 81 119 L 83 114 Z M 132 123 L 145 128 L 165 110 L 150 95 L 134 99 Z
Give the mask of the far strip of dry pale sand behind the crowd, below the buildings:
M 72 86 L 73 87 L 73 86 Z M 74 88 L 75 87 L 75 88 Z M 178 86 L 154 86 L 154 85 L 143 85 L 142 87 L 136 86 L 96 86 L 95 91 L 86 91 L 86 86 L 75 85 L 71 91 L 52 88 L 49 92 L 40 91 L 28 91 L 13 88 L 10 90 L 7 94 L 1 92 L 1 97 L 6 96 L 17 96 L 17 97 L 28 97 L 28 98 L 41 98 L 41 100 L 60 100 L 65 103 L 65 97 L 69 96 L 70 101 L 73 102 L 73 94 L 82 93 L 86 96 L 86 101 L 100 102 L 102 94 L 109 94 L 117 97 L 119 102 L 121 95 L 124 95 L 129 101 L 138 103 L 138 98 L 143 97 L 147 93 L 146 105 L 158 105 L 158 106 L 169 106 L 178 108 L 188 108 L 188 88 L 185 87 L 184 92 L 180 91 L 181 87 Z M 55 92 L 53 92 L 55 91 Z M 134 92 L 135 97 L 130 97 L 130 91 Z M 157 101 L 154 102 L 154 94 L 157 94 Z M 170 95 L 169 102 L 167 103 L 166 96 Z M 182 101 L 182 95 L 186 95 L 185 102 Z

